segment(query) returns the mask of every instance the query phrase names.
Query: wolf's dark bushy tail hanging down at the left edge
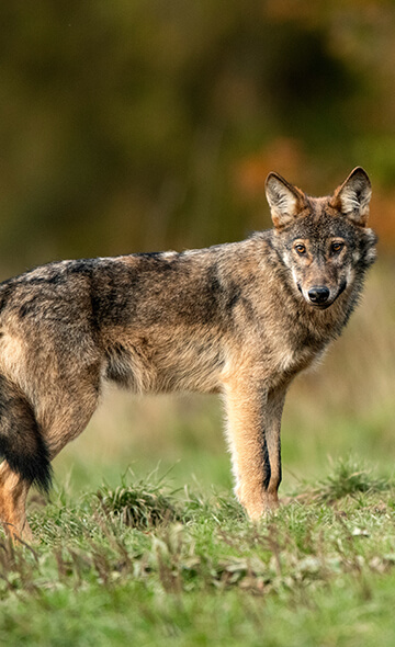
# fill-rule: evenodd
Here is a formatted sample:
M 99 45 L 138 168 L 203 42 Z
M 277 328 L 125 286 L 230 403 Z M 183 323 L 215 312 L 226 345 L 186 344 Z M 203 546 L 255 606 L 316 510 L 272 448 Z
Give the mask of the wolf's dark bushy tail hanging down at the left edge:
M 0 457 L 12 472 L 47 492 L 52 483 L 48 447 L 32 405 L 22 390 L 0 374 Z

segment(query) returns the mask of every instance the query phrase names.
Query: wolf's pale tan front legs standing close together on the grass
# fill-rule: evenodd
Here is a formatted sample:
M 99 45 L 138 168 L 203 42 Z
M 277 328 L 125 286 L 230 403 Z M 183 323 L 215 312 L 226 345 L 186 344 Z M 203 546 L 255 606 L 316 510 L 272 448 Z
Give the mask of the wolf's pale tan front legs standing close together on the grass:
M 250 519 L 278 506 L 281 481 L 280 427 L 285 388 L 228 384 L 227 438 L 236 478 L 235 492 Z

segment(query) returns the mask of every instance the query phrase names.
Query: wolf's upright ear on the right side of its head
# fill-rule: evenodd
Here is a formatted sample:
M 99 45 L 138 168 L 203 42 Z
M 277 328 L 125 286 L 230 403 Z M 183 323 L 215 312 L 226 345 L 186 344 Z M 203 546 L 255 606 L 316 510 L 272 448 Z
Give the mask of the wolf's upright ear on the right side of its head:
M 372 188 L 366 171 L 357 167 L 334 193 L 330 205 L 350 220 L 365 227 Z

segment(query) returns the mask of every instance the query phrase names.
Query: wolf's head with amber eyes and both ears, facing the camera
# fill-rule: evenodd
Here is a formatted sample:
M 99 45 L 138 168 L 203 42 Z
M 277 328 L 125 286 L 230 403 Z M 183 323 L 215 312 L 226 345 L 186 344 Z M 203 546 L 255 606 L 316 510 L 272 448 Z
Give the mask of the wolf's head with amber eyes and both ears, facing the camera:
M 328 308 L 375 259 L 376 236 L 366 227 L 371 183 L 358 167 L 328 197 L 311 197 L 278 173 L 266 182 L 274 243 L 295 292 L 314 308 Z

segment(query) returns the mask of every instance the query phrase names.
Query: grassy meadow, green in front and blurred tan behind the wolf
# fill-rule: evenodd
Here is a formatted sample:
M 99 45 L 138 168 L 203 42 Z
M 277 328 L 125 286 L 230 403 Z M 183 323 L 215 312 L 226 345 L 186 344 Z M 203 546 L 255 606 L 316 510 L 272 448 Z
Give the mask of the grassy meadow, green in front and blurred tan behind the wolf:
M 221 402 L 109 389 L 32 492 L 34 545 L 0 537 L 0 644 L 392 646 L 394 265 L 282 429 L 283 506 L 251 524 L 232 493 Z

